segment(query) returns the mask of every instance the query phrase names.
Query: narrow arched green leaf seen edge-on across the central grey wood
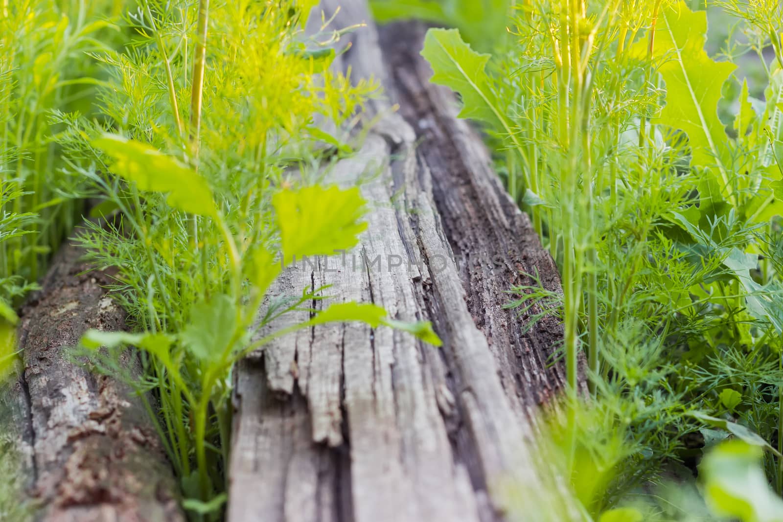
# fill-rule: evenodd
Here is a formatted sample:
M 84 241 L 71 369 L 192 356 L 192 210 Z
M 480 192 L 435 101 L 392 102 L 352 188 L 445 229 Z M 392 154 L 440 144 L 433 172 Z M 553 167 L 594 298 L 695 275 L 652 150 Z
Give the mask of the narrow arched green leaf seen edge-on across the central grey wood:
M 377 304 L 356 303 L 353 301 L 332 304 L 329 308 L 311 319 L 310 324 L 320 325 L 327 322 L 351 321 L 363 322 L 373 328 L 377 328 L 381 325 L 388 326 L 390 328 L 412 333 L 413 336 L 423 340 L 425 343 L 433 344 L 435 346 L 441 346 L 442 344 L 440 338 L 432 329 L 431 322 L 405 322 L 391 319 L 388 317 L 386 310 Z

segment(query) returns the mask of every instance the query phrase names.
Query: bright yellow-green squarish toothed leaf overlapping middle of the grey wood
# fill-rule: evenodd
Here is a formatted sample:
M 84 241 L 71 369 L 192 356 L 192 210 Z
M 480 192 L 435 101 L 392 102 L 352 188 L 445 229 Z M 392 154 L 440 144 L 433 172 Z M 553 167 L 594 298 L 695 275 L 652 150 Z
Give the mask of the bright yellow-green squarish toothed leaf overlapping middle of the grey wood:
M 272 196 L 285 263 L 295 257 L 330 255 L 359 243 L 367 228 L 360 221 L 364 204 L 359 189 L 320 185 L 281 190 Z

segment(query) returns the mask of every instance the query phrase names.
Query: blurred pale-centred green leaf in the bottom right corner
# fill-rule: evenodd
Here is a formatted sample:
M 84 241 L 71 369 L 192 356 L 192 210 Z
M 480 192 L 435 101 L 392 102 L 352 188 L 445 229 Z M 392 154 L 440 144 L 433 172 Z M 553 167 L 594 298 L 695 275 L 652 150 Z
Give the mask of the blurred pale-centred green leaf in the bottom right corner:
M 761 466 L 761 449 L 745 441 L 726 441 L 699 464 L 704 499 L 719 517 L 742 522 L 780 522 L 783 501 L 770 490 Z

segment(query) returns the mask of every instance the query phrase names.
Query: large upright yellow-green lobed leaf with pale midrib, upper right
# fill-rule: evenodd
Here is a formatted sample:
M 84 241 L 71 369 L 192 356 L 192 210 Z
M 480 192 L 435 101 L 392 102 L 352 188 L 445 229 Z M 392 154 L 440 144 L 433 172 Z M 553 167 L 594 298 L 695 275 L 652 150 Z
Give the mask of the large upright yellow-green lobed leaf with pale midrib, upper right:
M 728 195 L 729 140 L 717 106 L 723 83 L 737 66 L 707 55 L 706 33 L 705 11 L 694 13 L 682 0 L 662 10 L 655 28 L 655 56 L 664 59 L 659 71 L 666 82 L 666 106 L 653 123 L 684 131 L 691 145 L 691 164 L 716 166 L 723 193 Z M 637 53 L 646 53 L 641 49 L 647 41 L 645 37 L 637 44 Z

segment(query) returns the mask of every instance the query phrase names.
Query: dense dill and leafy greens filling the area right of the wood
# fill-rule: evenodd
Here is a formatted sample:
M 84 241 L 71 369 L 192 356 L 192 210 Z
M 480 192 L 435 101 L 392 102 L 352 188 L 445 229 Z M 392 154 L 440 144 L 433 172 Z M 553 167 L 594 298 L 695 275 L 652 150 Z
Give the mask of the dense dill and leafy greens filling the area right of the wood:
M 687 2 L 532 0 L 508 18 L 517 44 L 492 56 L 455 31 L 424 42 L 432 80 L 489 131 L 510 193 L 561 267 L 559 306 L 535 281 L 516 304 L 540 301 L 563 319 L 572 390 L 577 352 L 587 353 L 594 398 L 568 409 L 558 447 L 594 518 L 701 455 L 687 438 L 715 440 L 717 421 L 698 412 L 770 443 L 764 469 L 783 492 L 773 451 L 783 448 L 783 10 L 709 3 L 737 24 L 719 61 L 703 50 L 704 13 Z M 749 81 L 763 85 L 739 81 L 727 61 L 745 66 L 749 53 L 764 64 Z M 581 409 L 601 422 L 580 420 Z M 608 434 L 622 445 L 592 442 Z M 608 478 L 583 494 L 585 474 Z

